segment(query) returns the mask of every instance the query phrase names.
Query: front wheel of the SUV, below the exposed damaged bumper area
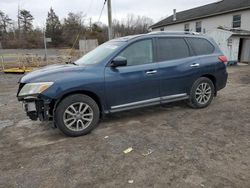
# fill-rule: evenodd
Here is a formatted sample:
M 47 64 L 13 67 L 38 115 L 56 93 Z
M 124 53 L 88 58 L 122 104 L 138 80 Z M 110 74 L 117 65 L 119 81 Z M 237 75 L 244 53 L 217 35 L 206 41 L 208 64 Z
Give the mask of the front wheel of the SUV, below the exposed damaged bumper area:
M 77 137 L 90 133 L 98 125 L 100 109 L 87 95 L 74 94 L 64 98 L 56 108 L 55 122 L 67 136 Z

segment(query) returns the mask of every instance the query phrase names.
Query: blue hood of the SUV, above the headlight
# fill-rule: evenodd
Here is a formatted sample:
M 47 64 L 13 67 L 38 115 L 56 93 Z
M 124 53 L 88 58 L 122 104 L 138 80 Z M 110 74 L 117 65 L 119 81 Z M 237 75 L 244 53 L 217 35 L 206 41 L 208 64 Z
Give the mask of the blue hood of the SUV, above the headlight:
M 20 83 L 34 82 L 55 82 L 72 75 L 73 72 L 82 72 L 85 67 L 65 64 L 49 65 L 44 68 L 32 71 L 20 79 Z

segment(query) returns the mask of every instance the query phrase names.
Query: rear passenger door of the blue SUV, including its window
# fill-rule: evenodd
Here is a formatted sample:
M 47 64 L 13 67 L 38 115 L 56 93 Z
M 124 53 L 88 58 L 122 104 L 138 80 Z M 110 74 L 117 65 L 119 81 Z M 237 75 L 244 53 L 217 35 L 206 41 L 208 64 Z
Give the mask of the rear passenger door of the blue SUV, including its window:
M 198 75 L 199 58 L 183 37 L 159 37 L 157 44 L 162 101 L 187 98 Z

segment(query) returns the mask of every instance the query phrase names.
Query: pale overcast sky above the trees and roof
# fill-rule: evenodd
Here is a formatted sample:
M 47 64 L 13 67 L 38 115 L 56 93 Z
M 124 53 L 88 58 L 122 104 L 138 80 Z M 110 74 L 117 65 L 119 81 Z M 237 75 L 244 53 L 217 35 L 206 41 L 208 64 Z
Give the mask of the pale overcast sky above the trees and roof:
M 196 6 L 212 3 L 217 0 L 112 0 L 113 18 L 123 19 L 128 14 L 147 16 L 159 21 L 177 11 L 186 10 Z M 52 7 L 60 20 L 63 20 L 69 12 L 83 12 L 88 18 L 96 22 L 100 15 L 104 0 L 0 0 L 0 10 L 8 14 L 13 20 L 17 20 L 17 9 L 26 9 L 34 16 L 34 25 L 43 27 L 47 12 Z M 107 23 L 107 9 L 105 7 L 101 17 L 103 23 Z

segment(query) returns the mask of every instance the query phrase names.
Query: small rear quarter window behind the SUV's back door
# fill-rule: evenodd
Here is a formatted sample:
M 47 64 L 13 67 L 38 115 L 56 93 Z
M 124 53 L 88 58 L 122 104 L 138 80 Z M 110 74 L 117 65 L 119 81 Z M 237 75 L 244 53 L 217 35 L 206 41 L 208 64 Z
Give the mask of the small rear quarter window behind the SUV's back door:
M 187 38 L 187 40 L 196 55 L 206 55 L 214 52 L 214 46 L 206 39 Z

